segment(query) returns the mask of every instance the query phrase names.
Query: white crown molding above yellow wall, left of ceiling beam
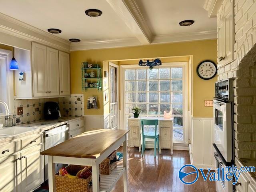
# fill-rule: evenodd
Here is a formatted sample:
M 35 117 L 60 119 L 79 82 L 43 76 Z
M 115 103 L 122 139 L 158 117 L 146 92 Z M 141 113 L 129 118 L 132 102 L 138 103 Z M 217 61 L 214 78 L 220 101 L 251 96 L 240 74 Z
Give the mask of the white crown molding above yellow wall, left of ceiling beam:
M 138 45 L 141 45 L 141 43 L 136 37 L 96 41 L 80 41 L 79 43 L 71 43 L 70 51 L 130 47 Z

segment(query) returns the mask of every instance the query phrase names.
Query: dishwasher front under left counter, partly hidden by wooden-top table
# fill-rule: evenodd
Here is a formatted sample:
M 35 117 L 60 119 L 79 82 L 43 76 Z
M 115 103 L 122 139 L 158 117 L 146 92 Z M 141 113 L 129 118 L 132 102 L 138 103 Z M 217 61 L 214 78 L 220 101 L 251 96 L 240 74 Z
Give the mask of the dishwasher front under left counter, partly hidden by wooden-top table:
M 68 125 L 64 124 L 59 127 L 44 131 L 44 150 L 56 146 L 68 140 Z M 55 164 L 56 173 L 60 168 L 66 166 L 65 164 Z M 48 180 L 48 157 L 44 156 L 44 181 Z

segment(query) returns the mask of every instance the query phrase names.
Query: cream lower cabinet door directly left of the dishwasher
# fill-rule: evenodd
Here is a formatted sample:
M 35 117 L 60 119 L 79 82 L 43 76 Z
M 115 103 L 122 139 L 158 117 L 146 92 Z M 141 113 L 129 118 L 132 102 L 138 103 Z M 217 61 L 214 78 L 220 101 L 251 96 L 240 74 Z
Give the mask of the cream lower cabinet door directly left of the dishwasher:
M 44 161 L 40 155 L 42 145 L 30 148 L 21 153 L 22 170 L 22 192 L 27 192 L 36 188 L 44 182 Z

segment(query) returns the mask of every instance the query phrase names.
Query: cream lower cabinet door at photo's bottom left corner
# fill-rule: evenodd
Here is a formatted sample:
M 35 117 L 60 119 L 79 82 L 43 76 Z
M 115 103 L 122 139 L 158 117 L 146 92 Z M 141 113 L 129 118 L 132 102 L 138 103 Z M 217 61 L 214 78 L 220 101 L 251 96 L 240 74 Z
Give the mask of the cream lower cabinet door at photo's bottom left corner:
M 0 160 L 0 191 L 20 192 L 20 160 L 19 155 L 12 155 Z

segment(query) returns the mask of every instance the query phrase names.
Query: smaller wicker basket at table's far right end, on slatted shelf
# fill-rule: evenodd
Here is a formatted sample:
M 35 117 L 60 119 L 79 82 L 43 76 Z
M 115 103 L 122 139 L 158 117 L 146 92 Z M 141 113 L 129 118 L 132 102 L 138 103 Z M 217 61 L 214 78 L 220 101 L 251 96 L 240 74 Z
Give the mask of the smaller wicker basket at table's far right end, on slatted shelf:
M 116 168 L 116 151 L 112 152 L 104 161 L 100 164 L 100 173 L 109 175 Z

